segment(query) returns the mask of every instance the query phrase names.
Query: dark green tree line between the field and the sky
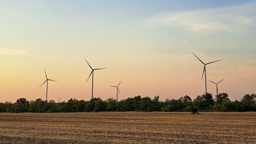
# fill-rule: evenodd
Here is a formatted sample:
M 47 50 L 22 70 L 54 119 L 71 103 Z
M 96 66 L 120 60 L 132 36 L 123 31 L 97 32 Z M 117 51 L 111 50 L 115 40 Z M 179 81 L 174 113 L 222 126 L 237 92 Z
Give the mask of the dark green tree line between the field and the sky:
M 17 99 L 15 103 L 0 103 L 0 112 L 107 112 L 107 111 L 141 111 L 141 112 L 190 112 L 192 108 L 199 111 L 217 112 L 247 112 L 256 111 L 256 94 L 244 95 L 241 101 L 230 101 L 227 93 L 219 93 L 212 98 L 211 93 L 198 95 L 191 99 L 185 95 L 179 99 L 166 99 L 160 101 L 159 96 L 154 99 L 134 98 L 123 99 L 117 103 L 115 99 L 109 98 L 103 101 L 101 98 L 92 98 L 90 101 L 69 99 L 68 102 L 56 103 L 55 101 L 27 101 L 25 98 Z

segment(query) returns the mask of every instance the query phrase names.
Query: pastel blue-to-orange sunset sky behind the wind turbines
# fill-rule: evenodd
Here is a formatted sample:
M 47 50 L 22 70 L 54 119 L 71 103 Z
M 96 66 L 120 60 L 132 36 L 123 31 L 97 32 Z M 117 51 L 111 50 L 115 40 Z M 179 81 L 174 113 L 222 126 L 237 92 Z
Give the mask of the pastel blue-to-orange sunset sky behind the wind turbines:
M 1 1 L 0 102 L 256 93 L 256 1 Z M 216 86 L 207 82 L 208 92 Z

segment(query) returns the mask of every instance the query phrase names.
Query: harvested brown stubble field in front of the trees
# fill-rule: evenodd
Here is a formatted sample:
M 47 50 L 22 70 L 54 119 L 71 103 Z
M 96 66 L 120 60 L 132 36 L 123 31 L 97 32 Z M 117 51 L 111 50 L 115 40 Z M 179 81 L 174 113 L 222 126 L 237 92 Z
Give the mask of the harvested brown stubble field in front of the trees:
M 0 113 L 0 143 L 255 143 L 256 112 Z

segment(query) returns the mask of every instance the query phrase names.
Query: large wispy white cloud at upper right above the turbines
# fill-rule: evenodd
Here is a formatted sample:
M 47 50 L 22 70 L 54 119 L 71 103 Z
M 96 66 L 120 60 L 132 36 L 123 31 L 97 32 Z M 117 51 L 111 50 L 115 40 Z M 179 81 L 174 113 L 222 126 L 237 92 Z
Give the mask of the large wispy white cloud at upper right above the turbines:
M 235 31 L 255 23 L 255 8 L 256 2 L 253 2 L 239 6 L 164 14 L 147 22 L 193 32 Z

